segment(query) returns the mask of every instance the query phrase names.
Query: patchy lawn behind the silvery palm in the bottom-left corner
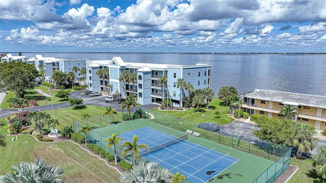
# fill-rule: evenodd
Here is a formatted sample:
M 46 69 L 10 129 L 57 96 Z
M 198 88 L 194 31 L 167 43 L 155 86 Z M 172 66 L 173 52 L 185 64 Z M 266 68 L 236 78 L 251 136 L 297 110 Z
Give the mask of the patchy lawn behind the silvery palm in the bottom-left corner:
M 67 182 L 119 182 L 120 174 L 103 161 L 91 156 L 72 142 L 40 143 L 34 137 L 19 135 L 18 140 L 7 137 L 7 147 L 0 148 L 0 174 L 21 161 L 35 161 L 43 157 L 47 164 L 64 169 L 62 178 Z

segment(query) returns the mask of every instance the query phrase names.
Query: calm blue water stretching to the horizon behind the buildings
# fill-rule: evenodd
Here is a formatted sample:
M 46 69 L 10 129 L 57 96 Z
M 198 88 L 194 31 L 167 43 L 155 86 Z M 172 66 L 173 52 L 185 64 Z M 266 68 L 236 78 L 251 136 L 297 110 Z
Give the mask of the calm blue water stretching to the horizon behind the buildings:
M 212 65 L 215 96 L 223 85 L 239 94 L 255 88 L 326 96 L 326 54 L 162 54 L 162 53 L 26 53 L 26 57 L 111 59 L 124 62 Z

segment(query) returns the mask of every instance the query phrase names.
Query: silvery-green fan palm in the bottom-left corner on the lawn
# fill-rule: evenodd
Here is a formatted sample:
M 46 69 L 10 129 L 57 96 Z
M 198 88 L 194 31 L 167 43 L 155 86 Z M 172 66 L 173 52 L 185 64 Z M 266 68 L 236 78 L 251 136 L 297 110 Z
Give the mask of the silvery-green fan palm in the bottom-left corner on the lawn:
M 11 170 L 0 176 L 0 182 L 64 182 L 61 175 L 64 170 L 55 165 L 48 165 L 43 158 L 35 162 L 20 162 L 11 166 Z

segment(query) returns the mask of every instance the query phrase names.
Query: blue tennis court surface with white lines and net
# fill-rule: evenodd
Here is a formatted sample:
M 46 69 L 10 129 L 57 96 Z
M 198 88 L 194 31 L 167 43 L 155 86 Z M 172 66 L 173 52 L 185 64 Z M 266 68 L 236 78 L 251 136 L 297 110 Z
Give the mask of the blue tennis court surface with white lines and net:
M 170 143 L 176 139 L 173 134 L 169 135 L 148 127 L 125 132 L 119 136 L 123 137 L 124 140 L 132 141 L 134 135 L 139 136 L 139 143 L 145 143 L 151 149 L 149 153 L 145 150 L 140 155 L 149 161 L 158 162 L 158 165 L 169 169 L 173 173 L 180 172 L 192 182 L 206 182 L 239 161 L 228 156 L 227 151 L 214 147 L 209 149 L 179 139 L 177 139 L 177 143 Z M 157 148 L 160 144 L 165 143 L 166 145 Z

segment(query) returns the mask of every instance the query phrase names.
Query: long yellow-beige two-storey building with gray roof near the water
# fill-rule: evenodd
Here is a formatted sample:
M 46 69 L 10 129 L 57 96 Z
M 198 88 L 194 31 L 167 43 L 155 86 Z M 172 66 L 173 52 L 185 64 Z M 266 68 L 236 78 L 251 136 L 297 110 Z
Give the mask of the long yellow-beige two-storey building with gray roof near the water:
M 290 105 L 298 109 L 296 121 L 308 124 L 315 129 L 326 129 L 326 97 L 255 89 L 242 95 L 243 112 L 282 118 L 281 108 Z

